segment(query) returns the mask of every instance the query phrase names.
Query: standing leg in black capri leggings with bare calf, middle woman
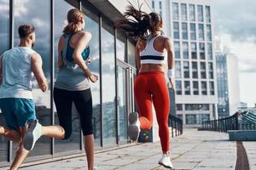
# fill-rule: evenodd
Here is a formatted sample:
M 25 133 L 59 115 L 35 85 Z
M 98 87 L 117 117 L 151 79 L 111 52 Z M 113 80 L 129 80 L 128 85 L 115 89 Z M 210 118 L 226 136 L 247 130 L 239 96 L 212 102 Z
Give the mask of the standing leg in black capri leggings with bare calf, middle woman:
M 79 112 L 80 123 L 84 134 L 84 150 L 88 170 L 94 168 L 94 137 L 92 127 L 92 99 L 90 89 L 73 93 L 73 102 Z

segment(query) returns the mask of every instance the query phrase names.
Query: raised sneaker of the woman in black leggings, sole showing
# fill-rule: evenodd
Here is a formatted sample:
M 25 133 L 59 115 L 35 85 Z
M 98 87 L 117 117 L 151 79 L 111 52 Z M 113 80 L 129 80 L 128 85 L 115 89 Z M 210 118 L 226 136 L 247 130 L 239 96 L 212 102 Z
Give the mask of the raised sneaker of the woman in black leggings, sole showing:
M 38 120 L 30 122 L 27 128 L 27 132 L 24 135 L 24 148 L 26 150 L 32 150 L 41 135 L 42 125 L 38 122 Z

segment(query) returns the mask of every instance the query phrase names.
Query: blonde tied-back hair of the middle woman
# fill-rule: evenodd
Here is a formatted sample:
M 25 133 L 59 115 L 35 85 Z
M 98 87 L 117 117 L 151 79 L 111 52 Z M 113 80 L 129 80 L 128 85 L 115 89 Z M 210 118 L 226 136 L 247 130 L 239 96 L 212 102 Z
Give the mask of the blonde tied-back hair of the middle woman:
M 64 27 L 63 32 L 66 34 L 76 33 L 79 31 L 79 21 L 84 14 L 78 8 L 72 8 L 67 12 L 68 25 Z

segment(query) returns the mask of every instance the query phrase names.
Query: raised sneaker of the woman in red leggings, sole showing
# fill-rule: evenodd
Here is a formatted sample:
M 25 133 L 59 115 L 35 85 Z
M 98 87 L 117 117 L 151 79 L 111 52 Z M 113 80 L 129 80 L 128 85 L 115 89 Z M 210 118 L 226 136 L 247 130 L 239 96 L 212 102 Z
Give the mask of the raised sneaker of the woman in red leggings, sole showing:
M 139 122 L 139 116 L 137 112 L 130 113 L 128 136 L 131 138 L 132 141 L 137 141 L 139 134 L 141 132 L 140 126 L 141 126 L 141 123 Z

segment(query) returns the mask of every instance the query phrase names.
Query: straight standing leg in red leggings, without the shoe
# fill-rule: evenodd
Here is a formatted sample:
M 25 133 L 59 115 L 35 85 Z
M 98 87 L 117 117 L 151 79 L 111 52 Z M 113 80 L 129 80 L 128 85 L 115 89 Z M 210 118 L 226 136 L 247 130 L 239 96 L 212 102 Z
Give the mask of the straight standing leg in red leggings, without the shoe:
M 169 126 L 168 118 L 170 111 L 169 91 L 166 86 L 164 74 L 154 77 L 150 85 L 153 93 L 153 103 L 159 125 L 160 142 L 164 154 L 169 155 Z

